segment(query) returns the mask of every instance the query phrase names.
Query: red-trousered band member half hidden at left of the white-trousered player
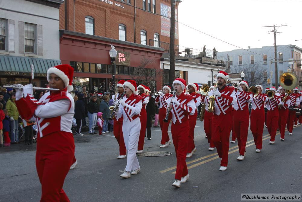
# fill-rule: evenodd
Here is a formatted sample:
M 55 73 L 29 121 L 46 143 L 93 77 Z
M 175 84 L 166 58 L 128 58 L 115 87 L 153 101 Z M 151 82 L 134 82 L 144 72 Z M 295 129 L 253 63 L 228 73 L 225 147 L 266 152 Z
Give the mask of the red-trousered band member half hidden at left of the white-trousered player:
M 123 88 L 123 84 L 125 83 L 124 80 L 120 80 L 117 82 L 116 88 L 118 93 L 115 95 L 112 95 L 112 99 L 113 99 L 113 104 L 116 105 L 118 102 L 118 100 L 120 99 L 120 97 L 122 96 L 123 92 L 124 92 L 124 88 Z M 119 145 L 119 156 L 117 157 L 118 159 L 122 159 L 122 158 L 126 158 L 126 146 L 125 146 L 125 142 L 124 142 L 124 135 L 123 135 L 123 117 L 119 116 L 119 117 L 115 117 L 113 120 L 113 134 L 115 139 L 117 140 L 117 143 Z

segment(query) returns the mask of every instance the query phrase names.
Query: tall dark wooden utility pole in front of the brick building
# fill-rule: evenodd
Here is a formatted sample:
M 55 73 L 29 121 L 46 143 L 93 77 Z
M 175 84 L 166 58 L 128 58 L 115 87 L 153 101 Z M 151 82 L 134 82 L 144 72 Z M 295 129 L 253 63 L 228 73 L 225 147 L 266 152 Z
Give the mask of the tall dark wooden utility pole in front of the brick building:
M 169 84 L 173 89 L 173 81 L 175 78 L 175 0 L 171 0 L 171 29 L 170 29 L 170 71 Z

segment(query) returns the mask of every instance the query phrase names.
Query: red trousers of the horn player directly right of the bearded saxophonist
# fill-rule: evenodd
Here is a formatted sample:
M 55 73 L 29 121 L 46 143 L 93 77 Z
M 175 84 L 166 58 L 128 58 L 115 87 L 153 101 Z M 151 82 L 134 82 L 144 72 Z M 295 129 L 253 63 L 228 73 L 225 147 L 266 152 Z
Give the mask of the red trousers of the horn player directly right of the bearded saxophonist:
M 246 151 L 247 133 L 249 131 L 249 108 L 245 110 L 234 110 L 233 127 L 237 134 L 239 155 L 244 156 Z

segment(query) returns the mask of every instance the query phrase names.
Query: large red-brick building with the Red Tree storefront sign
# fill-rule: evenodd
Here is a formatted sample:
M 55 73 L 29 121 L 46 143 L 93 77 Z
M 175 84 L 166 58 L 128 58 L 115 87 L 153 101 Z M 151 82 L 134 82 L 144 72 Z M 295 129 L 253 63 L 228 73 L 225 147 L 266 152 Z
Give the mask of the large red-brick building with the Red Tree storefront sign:
M 176 19 L 180 2 L 175 5 Z M 117 64 L 116 80 L 132 79 L 131 72 L 142 60 L 152 60 L 146 68 L 157 71 L 154 88 L 160 89 L 160 58 L 170 42 L 170 5 L 169 0 L 65 0 L 59 12 L 60 59 L 75 68 L 76 89 L 111 88 L 111 42 L 118 52 L 130 56 L 128 63 Z

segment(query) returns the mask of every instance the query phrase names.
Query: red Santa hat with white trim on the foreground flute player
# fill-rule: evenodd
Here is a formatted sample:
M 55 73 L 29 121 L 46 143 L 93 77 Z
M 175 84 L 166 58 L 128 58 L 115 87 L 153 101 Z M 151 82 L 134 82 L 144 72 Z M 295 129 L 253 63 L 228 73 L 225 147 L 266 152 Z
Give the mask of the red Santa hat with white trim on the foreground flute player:
M 64 84 L 65 88 L 67 87 L 67 91 L 71 92 L 73 90 L 72 86 L 72 76 L 73 76 L 73 68 L 70 65 L 57 65 L 54 67 L 51 67 L 47 70 L 47 81 L 49 81 L 50 74 L 55 74 L 58 77 L 60 77 Z

